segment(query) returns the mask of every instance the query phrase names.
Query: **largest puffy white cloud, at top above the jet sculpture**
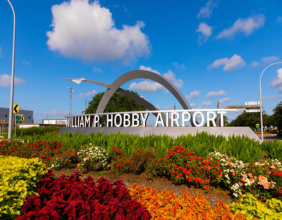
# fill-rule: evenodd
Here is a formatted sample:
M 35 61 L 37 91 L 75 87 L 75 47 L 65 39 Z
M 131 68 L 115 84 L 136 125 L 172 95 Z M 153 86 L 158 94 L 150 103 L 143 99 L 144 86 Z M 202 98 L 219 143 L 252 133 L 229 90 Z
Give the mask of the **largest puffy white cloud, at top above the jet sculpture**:
M 99 1 L 71 0 L 53 5 L 52 31 L 46 32 L 50 50 L 65 57 L 91 61 L 122 60 L 128 64 L 148 56 L 151 45 L 141 32 L 144 22 L 115 27 L 112 13 Z

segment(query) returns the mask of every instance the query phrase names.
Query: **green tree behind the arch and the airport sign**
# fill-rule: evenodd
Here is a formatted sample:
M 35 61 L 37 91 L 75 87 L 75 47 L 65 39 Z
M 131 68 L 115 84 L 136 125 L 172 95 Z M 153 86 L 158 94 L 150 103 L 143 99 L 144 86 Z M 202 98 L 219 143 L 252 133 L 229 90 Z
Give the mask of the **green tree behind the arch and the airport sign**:
M 129 91 L 135 95 L 138 95 L 137 92 L 134 91 Z M 96 110 L 98 108 L 98 105 L 103 97 L 105 92 L 99 92 L 95 96 L 92 97 L 92 100 L 88 102 L 88 108 L 86 108 L 85 111 L 82 113 L 85 114 L 93 114 L 96 113 Z M 139 95 L 138 95 L 139 96 Z M 127 96 L 115 92 L 112 97 L 110 98 L 109 102 L 106 105 L 106 108 L 104 110 L 104 113 L 108 112 L 131 112 L 131 111 L 146 111 L 146 108 L 144 108 L 142 105 L 139 103 L 135 102 L 131 98 L 128 98 Z M 91 121 L 92 123 L 92 121 Z M 105 126 L 107 124 L 107 116 L 102 116 L 101 117 L 101 122 L 102 126 Z

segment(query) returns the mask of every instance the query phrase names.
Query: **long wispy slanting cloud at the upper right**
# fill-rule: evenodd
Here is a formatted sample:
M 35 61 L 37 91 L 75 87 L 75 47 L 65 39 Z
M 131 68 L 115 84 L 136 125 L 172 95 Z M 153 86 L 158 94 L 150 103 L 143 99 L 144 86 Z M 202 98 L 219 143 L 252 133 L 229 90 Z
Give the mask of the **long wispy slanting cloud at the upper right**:
M 256 29 L 264 26 L 265 16 L 263 14 L 253 14 L 247 18 L 239 18 L 232 27 L 220 32 L 216 39 L 224 37 L 234 37 L 237 33 L 243 32 L 246 36 L 253 33 Z

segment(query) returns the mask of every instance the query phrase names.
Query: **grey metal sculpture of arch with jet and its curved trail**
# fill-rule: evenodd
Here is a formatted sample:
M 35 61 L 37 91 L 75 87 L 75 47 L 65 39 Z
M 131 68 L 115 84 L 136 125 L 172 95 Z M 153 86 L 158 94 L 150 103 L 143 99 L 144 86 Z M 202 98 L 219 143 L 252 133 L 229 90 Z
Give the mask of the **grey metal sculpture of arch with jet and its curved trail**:
M 139 96 L 137 96 L 137 95 L 135 95 L 133 93 L 130 93 L 130 92 L 120 88 L 120 86 L 122 86 L 124 83 L 127 83 L 130 80 L 138 79 L 138 78 L 150 79 L 150 80 L 153 80 L 153 81 L 161 84 L 167 90 L 169 90 L 170 93 L 173 94 L 173 96 L 181 104 L 183 109 L 192 109 L 190 104 L 188 103 L 188 101 L 183 96 L 183 94 L 179 91 L 178 88 L 176 88 L 176 86 L 173 83 L 171 83 L 165 77 L 163 77 L 163 76 L 161 76 L 161 75 L 159 75 L 157 73 L 153 73 L 153 72 L 147 71 L 147 70 L 133 70 L 133 71 L 129 71 L 127 73 L 124 73 L 120 77 L 118 77 L 112 84 L 107 84 L 107 83 L 101 83 L 101 82 L 97 82 L 97 81 L 87 80 L 84 77 L 82 77 L 80 79 L 62 79 L 62 80 L 70 80 L 70 81 L 73 81 L 73 82 L 75 82 L 77 84 L 80 84 L 81 82 L 87 82 L 87 83 L 93 83 L 93 84 L 97 84 L 97 85 L 101 85 L 101 86 L 107 87 L 108 89 L 104 93 L 104 95 L 103 95 L 103 97 L 102 97 L 102 99 L 101 99 L 101 101 L 100 101 L 100 103 L 98 105 L 98 108 L 96 110 L 96 113 L 103 113 L 104 112 L 108 101 L 112 97 L 113 93 L 115 93 L 116 91 L 126 95 L 127 97 L 129 97 L 131 99 L 133 99 L 134 101 L 138 102 L 139 104 L 141 104 L 142 106 L 144 106 L 148 110 L 159 110 L 157 107 L 155 107 L 151 103 L 147 102 L 143 98 L 140 98 Z M 163 117 L 165 116 L 164 113 L 162 113 L 162 115 L 163 115 Z M 193 113 L 192 113 L 192 115 L 193 115 Z M 195 126 L 193 124 L 193 122 L 192 122 L 192 118 L 193 117 L 191 117 L 191 119 L 190 119 L 191 125 Z M 196 121 L 197 121 L 197 119 L 196 119 Z M 93 127 L 93 124 L 92 124 L 92 127 Z

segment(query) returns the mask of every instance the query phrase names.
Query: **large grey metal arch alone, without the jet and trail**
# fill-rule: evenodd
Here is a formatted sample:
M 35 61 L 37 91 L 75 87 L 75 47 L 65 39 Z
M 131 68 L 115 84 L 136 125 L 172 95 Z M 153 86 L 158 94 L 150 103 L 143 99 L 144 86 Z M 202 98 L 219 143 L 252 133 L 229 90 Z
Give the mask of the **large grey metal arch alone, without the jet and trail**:
M 167 90 L 169 90 L 171 94 L 174 95 L 174 97 L 177 99 L 177 101 L 180 103 L 183 109 L 192 109 L 186 98 L 179 91 L 179 89 L 176 88 L 176 86 L 165 77 L 147 70 L 132 70 L 127 73 L 124 73 L 111 84 L 110 88 L 108 88 L 105 94 L 103 95 L 98 105 L 98 108 L 96 110 L 96 113 L 104 112 L 106 105 L 110 100 L 110 98 L 112 97 L 113 93 L 115 93 L 124 83 L 127 83 L 130 80 L 138 79 L 138 78 L 150 79 L 161 84 Z M 191 117 L 190 122 L 192 126 L 195 126 L 193 124 L 193 117 Z M 94 124 L 92 124 L 92 127 L 93 126 Z

